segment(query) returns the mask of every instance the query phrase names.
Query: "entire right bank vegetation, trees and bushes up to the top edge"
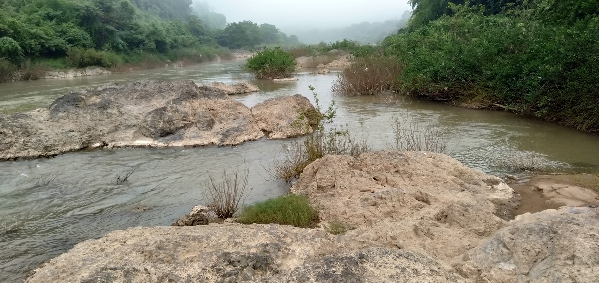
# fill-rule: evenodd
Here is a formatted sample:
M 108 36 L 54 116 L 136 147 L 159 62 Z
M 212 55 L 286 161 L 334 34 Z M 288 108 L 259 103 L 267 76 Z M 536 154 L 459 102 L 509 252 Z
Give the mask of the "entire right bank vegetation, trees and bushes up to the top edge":
M 597 2 L 411 3 L 415 10 L 408 26 L 388 36 L 377 56 L 368 59 L 401 64 L 401 72 L 385 88 L 599 131 Z M 365 91 L 354 91 L 362 81 L 366 80 L 348 70 L 340 75 L 335 90 L 347 94 L 380 90 L 377 82 L 363 87 Z

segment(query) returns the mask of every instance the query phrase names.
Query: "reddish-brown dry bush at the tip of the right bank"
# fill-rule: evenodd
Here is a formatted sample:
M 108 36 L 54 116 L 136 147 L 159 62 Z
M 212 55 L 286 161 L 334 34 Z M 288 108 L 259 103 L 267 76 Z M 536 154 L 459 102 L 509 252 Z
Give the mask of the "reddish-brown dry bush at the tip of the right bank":
M 398 86 L 397 77 L 403 64 L 394 56 L 369 55 L 356 57 L 341 72 L 332 85 L 332 91 L 346 95 L 372 95 Z

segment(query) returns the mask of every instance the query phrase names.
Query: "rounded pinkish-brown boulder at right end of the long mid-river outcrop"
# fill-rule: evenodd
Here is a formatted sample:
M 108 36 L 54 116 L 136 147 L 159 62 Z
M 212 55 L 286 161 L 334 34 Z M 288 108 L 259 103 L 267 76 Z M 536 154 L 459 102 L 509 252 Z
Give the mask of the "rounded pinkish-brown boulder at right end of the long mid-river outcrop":
M 316 124 L 316 109 L 301 94 L 268 99 L 252 107 L 252 115 L 269 139 L 301 136 L 312 133 Z

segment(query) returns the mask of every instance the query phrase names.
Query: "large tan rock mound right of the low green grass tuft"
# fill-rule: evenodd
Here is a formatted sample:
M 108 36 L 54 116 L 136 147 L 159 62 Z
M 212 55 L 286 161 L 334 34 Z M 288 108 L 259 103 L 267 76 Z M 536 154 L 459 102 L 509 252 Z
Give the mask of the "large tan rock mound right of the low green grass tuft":
M 304 169 L 292 191 L 307 195 L 323 222 L 358 228 L 344 235 L 349 247 L 401 247 L 441 260 L 503 227 L 495 203 L 513 198 L 497 177 L 425 152 L 325 156 Z

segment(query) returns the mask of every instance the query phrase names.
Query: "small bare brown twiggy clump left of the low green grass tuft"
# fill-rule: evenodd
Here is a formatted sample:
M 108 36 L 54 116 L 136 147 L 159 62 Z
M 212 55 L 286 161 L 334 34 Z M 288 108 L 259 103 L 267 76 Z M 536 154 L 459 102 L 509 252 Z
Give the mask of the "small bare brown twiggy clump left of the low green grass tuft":
M 207 192 L 204 199 L 207 205 L 212 207 L 217 217 L 228 219 L 239 210 L 247 199 L 252 188 L 247 186 L 249 168 L 240 174 L 239 168 L 235 168 L 231 174 L 223 170 L 220 180 L 211 174 L 207 177 Z

